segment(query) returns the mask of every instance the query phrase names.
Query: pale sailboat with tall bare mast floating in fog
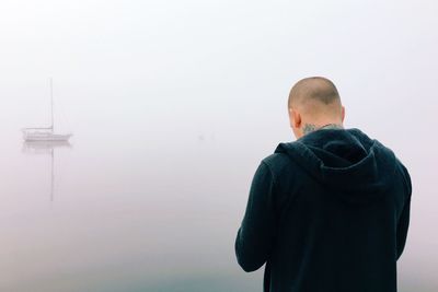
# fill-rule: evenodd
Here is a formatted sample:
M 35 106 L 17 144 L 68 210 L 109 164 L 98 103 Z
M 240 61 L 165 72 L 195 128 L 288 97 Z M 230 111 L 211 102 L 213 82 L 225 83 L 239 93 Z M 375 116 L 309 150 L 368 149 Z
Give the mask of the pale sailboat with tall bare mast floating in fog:
M 54 86 L 50 78 L 50 113 L 51 113 L 51 125 L 50 127 L 39 128 L 23 128 L 23 139 L 25 141 L 68 141 L 72 133 L 57 133 L 55 132 L 54 125 Z

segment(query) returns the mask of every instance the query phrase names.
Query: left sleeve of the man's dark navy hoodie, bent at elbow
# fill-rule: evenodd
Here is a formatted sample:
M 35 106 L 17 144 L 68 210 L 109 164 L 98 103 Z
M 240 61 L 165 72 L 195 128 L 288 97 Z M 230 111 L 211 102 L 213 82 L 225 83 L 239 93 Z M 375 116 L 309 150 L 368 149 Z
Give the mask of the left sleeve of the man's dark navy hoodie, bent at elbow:
M 261 162 L 253 177 L 245 214 L 234 243 L 235 256 L 244 271 L 255 271 L 268 259 L 276 231 L 274 177 Z

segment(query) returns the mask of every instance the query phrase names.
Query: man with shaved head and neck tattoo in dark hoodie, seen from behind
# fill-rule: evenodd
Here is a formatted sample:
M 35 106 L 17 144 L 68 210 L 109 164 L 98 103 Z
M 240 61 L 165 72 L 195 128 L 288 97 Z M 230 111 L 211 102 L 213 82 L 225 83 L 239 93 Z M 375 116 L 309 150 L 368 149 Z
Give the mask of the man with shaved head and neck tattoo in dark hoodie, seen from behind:
M 332 81 L 290 91 L 297 140 L 263 159 L 235 238 L 243 270 L 265 262 L 267 292 L 395 292 L 411 177 L 392 150 L 343 126 Z

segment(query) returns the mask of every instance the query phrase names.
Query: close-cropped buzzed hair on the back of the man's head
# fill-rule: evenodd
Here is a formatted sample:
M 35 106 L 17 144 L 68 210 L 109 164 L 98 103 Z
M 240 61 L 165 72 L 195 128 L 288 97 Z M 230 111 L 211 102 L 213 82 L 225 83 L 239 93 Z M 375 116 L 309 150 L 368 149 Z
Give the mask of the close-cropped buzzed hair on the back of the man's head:
M 341 97 L 332 81 L 310 77 L 298 81 L 290 90 L 288 107 L 312 115 L 341 114 Z

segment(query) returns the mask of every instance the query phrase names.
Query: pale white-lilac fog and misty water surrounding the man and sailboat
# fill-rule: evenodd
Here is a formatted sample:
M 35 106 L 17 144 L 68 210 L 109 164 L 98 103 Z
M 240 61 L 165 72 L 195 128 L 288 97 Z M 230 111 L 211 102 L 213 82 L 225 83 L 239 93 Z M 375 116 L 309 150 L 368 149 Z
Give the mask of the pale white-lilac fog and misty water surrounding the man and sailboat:
M 234 238 L 287 95 L 324 75 L 344 126 L 413 183 L 399 290 L 437 291 L 435 1 L 0 3 L 1 291 L 261 291 Z M 69 145 L 23 143 L 50 122 Z

